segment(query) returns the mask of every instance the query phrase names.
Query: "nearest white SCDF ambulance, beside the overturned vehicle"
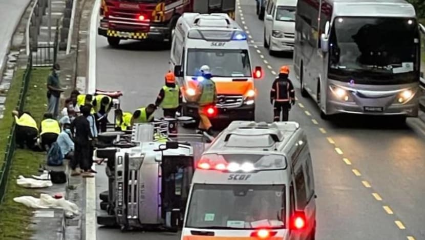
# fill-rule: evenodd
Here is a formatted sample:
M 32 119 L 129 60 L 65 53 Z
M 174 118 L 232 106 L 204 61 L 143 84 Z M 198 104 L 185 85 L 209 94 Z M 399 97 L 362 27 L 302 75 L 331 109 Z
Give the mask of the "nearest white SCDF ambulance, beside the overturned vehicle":
M 294 122 L 232 122 L 196 163 L 182 240 L 314 239 L 307 137 Z

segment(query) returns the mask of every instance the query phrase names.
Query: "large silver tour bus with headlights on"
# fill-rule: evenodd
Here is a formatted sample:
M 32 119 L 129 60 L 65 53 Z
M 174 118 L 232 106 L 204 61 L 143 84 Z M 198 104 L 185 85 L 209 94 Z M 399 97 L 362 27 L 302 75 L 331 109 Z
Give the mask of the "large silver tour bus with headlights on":
M 418 115 L 420 36 L 404 0 L 299 0 L 295 73 L 321 117 Z

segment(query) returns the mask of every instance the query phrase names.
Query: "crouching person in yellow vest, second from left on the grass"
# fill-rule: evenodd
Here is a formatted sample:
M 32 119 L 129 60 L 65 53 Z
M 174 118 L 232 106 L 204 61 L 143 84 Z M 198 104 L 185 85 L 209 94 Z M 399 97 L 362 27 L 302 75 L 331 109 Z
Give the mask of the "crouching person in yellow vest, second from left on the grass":
M 53 114 L 45 113 L 40 123 L 40 147 L 42 150 L 49 151 L 50 147 L 56 142 L 60 133 L 60 124 L 53 118 Z

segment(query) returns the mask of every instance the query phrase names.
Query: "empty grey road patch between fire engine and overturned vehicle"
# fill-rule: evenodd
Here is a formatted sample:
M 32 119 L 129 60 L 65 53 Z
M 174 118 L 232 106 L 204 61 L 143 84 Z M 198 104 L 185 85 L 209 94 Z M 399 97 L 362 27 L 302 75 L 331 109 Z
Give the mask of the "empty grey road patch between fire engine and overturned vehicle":
M 160 44 L 136 41 L 122 41 L 114 49 L 103 36 L 97 36 L 96 50 L 97 88 L 122 91 L 123 111 L 133 112 L 155 103 L 168 71 L 169 50 Z

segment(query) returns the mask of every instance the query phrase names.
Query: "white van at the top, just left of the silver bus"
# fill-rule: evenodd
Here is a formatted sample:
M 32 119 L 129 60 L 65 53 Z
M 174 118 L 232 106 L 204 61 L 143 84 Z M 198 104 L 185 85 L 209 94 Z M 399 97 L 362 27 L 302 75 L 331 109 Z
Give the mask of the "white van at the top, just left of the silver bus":
M 292 52 L 297 0 L 269 0 L 264 17 L 264 47 L 274 52 Z

